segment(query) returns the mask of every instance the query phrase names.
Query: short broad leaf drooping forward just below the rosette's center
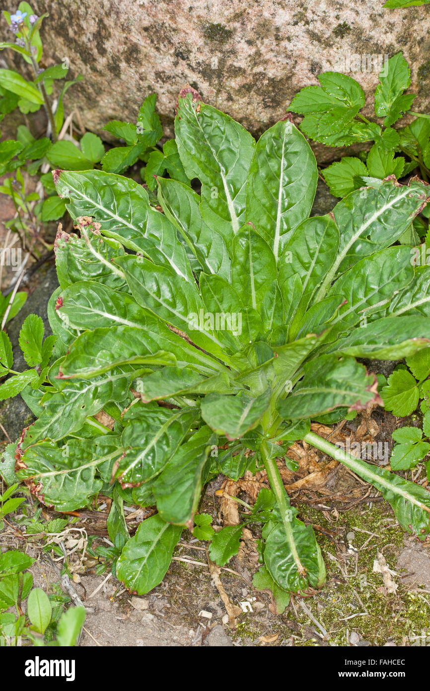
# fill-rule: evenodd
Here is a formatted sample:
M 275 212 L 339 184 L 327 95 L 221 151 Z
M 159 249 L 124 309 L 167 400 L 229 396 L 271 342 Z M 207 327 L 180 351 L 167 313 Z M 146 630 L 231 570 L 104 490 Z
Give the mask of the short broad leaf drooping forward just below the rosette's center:
M 210 393 L 202 401 L 202 417 L 218 434 L 238 439 L 257 424 L 268 406 L 270 391 L 256 398 L 240 392 L 236 396 Z

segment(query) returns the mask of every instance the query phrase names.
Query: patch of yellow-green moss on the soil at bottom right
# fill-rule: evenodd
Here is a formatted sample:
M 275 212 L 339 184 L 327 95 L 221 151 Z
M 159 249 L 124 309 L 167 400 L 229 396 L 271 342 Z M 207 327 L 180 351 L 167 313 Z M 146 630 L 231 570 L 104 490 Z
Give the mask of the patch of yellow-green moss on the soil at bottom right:
M 411 644 L 413 636 L 420 636 L 422 632 L 430 635 L 425 595 L 410 592 L 398 576 L 394 577 L 398 584 L 397 593 L 385 594 L 382 575 L 373 573 L 373 559 L 378 551 L 382 551 L 389 567 L 395 568 L 404 544 L 404 533 L 392 520 L 388 504 L 377 504 L 360 512 L 341 513 L 338 520 L 331 522 L 309 506 L 299 509 L 306 522 L 311 521 L 328 533 L 338 532 L 338 541 L 342 544 L 344 540 L 345 553 L 351 549 L 350 542 L 357 550 L 348 559 L 342 558 L 333 541 L 315 529 L 326 562 L 327 583 L 320 594 L 306 600 L 306 605 L 328 632 L 330 643 L 348 645 L 347 631 L 349 634 L 357 632 L 371 645 L 383 645 L 387 641 L 404 645 L 405 640 Z M 346 538 L 347 533 L 354 533 L 352 540 Z M 309 616 L 297 605 L 296 610 L 297 616 L 290 607 L 287 616 L 297 623 L 300 630 L 313 626 Z M 295 645 L 320 643 L 319 637 L 309 638 L 302 634 L 302 637 L 295 638 Z

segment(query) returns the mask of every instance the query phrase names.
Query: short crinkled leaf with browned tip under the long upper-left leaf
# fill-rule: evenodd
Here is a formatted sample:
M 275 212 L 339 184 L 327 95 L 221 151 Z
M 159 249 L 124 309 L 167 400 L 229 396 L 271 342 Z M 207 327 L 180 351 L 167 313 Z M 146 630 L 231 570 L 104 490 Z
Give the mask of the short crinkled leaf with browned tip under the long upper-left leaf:
M 55 265 L 61 288 L 77 281 L 94 280 L 111 288 L 123 290 L 126 279 L 113 263 L 113 258 L 124 254 L 124 247 L 95 232 L 94 226 L 81 224 L 82 237 L 65 233 L 61 227 L 55 238 Z

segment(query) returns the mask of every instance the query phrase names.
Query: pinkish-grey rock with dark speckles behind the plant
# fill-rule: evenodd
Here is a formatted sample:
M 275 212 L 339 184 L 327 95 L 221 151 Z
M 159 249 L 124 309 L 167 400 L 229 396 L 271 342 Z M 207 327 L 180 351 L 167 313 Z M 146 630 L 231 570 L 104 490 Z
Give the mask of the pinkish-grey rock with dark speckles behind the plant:
M 399 50 L 413 67 L 414 109 L 430 107 L 429 6 L 391 10 L 381 0 L 34 0 L 32 5 L 38 15 L 50 14 L 43 29 L 46 66 L 68 57 L 71 74 L 84 75 L 68 99 L 95 131 L 111 118 L 134 120 L 143 97 L 155 91 L 171 132 L 177 93 L 189 82 L 206 102 L 260 133 L 283 117 L 300 88 L 317 84 L 320 72 L 347 61 L 354 67 L 354 55 L 364 60 L 365 71 L 350 74 L 371 94 L 379 70 L 373 71 L 365 56 L 383 59 Z M 14 6 L 6 3 L 8 10 Z M 10 39 L 3 19 L 0 26 Z

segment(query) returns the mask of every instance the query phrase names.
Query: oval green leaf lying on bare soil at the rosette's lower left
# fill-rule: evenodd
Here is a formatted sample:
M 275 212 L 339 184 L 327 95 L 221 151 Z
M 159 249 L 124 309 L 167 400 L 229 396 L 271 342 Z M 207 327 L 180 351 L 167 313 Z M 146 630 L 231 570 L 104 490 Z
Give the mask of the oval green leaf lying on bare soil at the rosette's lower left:
M 137 595 L 161 583 L 170 565 L 182 527 L 166 523 L 158 514 L 144 520 L 126 543 L 117 562 L 117 578 Z

